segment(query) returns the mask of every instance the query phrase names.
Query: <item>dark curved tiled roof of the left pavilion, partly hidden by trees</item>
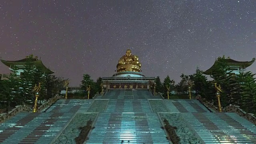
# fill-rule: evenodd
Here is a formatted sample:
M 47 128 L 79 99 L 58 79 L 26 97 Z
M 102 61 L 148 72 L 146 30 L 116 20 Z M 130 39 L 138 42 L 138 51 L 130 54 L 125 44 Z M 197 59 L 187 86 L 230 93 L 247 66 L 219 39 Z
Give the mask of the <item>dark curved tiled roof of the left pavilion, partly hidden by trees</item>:
M 10 67 L 11 65 L 25 65 L 25 63 L 27 62 L 27 58 L 23 58 L 21 60 L 14 60 L 14 61 L 2 60 L 2 59 L 0 60 L 3 64 L 5 64 L 8 67 Z M 37 58 L 32 58 L 32 63 L 34 63 L 36 66 L 40 66 L 43 72 L 45 72 L 46 74 L 54 73 L 49 68 L 46 68 L 46 66 L 44 66 L 44 64 L 42 63 L 42 60 L 38 60 Z

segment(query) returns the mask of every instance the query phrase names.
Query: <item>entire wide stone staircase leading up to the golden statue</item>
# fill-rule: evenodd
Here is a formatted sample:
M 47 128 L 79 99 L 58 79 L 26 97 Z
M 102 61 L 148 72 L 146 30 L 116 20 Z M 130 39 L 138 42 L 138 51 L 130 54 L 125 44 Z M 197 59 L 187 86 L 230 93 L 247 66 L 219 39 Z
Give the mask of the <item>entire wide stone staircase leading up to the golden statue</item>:
M 19 113 L 0 124 L 1 144 L 76 144 L 79 127 L 95 128 L 84 144 L 256 143 L 256 126 L 235 113 L 215 113 L 198 100 L 163 100 L 146 90 L 110 90 L 95 99 L 58 100 L 41 113 Z M 167 137 L 167 138 L 166 138 Z

